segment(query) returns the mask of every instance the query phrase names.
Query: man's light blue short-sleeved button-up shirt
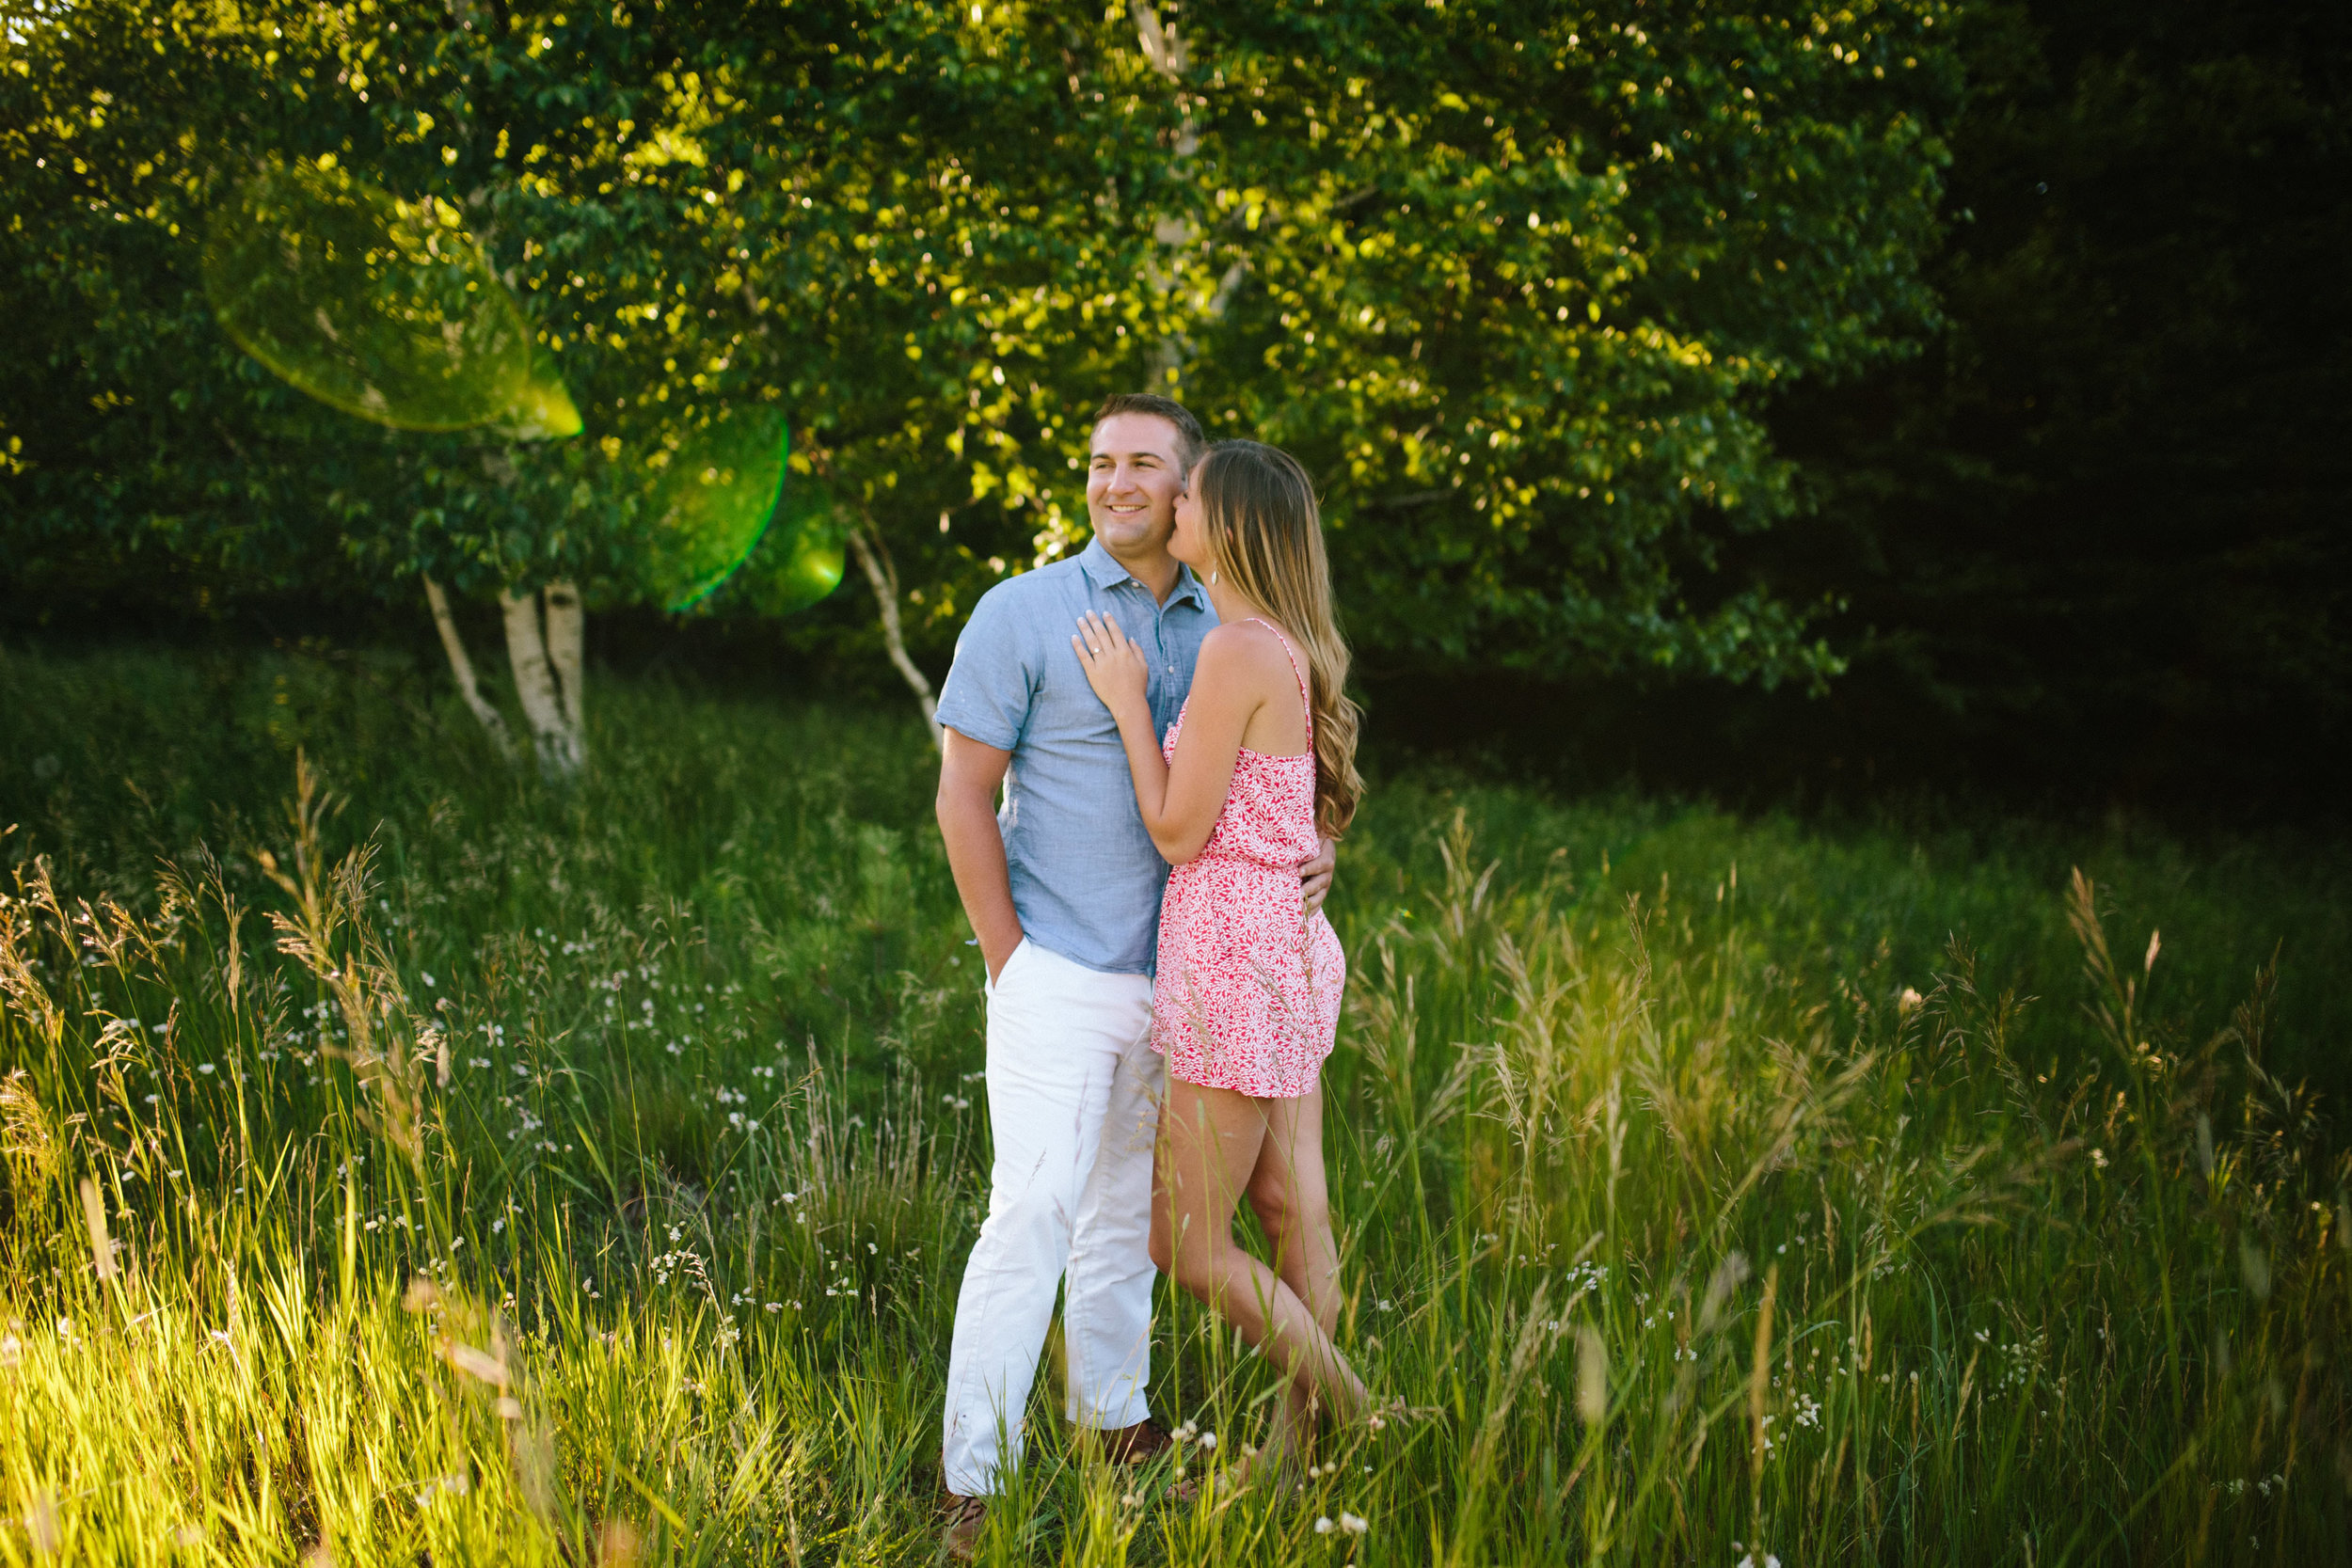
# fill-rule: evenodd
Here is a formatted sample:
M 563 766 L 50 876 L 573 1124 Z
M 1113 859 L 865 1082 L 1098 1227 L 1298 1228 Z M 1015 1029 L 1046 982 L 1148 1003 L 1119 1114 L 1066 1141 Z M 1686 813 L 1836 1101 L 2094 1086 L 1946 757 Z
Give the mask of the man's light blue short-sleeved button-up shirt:
M 1143 827 L 1120 726 L 1070 649 L 1089 609 L 1150 654 L 1152 729 L 1164 736 L 1216 611 L 1185 567 L 1155 602 L 1101 541 L 981 595 L 955 639 L 938 722 L 1011 752 L 997 827 L 1028 940 L 1087 969 L 1148 976 L 1169 863 Z

